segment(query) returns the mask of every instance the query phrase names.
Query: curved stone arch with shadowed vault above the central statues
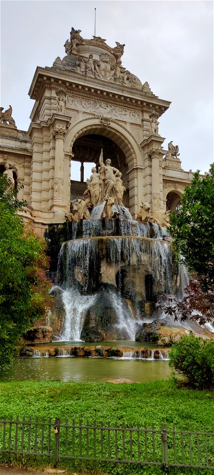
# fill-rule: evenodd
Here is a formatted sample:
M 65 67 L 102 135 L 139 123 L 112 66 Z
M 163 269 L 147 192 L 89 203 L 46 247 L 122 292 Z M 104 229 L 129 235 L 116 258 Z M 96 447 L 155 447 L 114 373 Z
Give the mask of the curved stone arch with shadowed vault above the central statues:
M 107 118 L 105 123 L 101 117 L 83 119 L 68 130 L 64 151 L 65 156 L 67 154 L 72 157 L 71 166 L 72 160 L 79 161 L 82 167 L 84 162 L 90 162 L 92 166 L 95 163 L 98 166 L 102 146 L 104 161 L 110 158 L 112 166 L 122 173 L 122 180 L 127 188 L 124 193 L 124 205 L 130 209 L 130 203 L 133 202 L 130 212 L 134 215 L 140 206 L 140 200 L 138 203 L 135 196 L 137 196 L 137 187 L 142 186 L 143 154 L 134 136 L 124 126 L 110 118 Z M 133 178 L 136 185 L 130 187 Z M 81 177 L 80 182 L 72 183 L 72 186 L 71 199 L 76 196 L 81 197 L 86 189 L 86 183 L 84 179 L 81 182 Z

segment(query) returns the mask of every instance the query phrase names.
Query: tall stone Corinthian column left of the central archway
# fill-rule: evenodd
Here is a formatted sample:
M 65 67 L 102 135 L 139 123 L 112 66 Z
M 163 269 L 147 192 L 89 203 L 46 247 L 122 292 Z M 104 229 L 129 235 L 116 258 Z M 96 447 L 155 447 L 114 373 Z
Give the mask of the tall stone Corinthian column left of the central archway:
M 56 126 L 54 129 L 55 137 L 55 161 L 54 161 L 54 199 L 53 206 L 63 206 L 63 187 L 64 187 L 64 136 L 65 127 Z

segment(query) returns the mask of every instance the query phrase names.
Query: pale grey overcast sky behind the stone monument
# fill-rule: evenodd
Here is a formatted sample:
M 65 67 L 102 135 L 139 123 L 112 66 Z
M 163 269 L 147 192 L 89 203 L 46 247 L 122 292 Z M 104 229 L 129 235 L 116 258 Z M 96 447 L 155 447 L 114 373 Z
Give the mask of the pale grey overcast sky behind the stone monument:
M 81 36 L 125 43 L 122 65 L 171 101 L 159 133 L 178 144 L 184 170 L 209 170 L 213 159 L 213 1 L 1 0 L 1 99 L 16 126 L 28 130 L 28 91 L 37 66 L 65 56 L 73 26 Z

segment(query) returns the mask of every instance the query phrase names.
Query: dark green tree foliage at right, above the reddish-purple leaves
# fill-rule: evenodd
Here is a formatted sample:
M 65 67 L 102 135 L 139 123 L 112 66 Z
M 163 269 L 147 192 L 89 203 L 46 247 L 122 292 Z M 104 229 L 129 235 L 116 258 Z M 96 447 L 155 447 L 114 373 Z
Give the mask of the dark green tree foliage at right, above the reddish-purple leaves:
M 170 214 L 170 235 L 177 258 L 196 272 L 203 289 L 214 284 L 214 163 L 204 177 L 194 174 L 181 207 Z

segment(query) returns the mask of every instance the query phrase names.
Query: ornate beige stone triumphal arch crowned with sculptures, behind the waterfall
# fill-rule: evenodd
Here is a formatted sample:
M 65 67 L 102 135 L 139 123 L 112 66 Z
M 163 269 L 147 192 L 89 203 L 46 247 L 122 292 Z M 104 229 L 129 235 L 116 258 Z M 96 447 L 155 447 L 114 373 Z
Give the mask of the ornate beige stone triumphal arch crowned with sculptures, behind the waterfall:
M 35 231 L 65 221 L 87 189 L 84 164 L 99 174 L 101 150 L 122 174 L 123 204 L 134 219 L 142 202 L 152 214 L 176 209 L 193 175 L 181 168 L 172 138 L 168 150 L 162 146 L 159 123 L 170 102 L 123 66 L 125 45 L 85 40 L 72 28 L 64 47 L 63 59 L 36 68 L 27 132 L 16 127 L 11 106 L 0 108 L 0 172 L 24 185 L 18 197 L 27 200 Z M 79 181 L 72 179 L 75 161 Z

